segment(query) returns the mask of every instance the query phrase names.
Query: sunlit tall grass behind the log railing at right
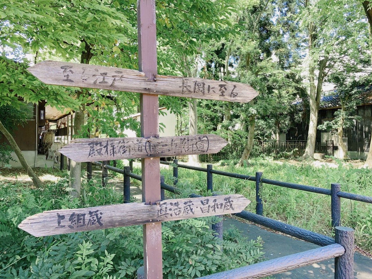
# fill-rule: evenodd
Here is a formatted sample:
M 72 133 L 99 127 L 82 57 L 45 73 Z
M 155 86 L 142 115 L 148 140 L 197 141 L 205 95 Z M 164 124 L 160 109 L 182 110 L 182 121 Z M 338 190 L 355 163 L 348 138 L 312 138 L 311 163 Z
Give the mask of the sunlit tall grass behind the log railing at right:
M 360 195 L 372 196 L 372 171 L 358 169 L 352 164 L 334 162 L 336 167 L 317 166 L 309 163 L 283 163 L 268 159 L 250 160 L 243 168 L 235 168 L 233 162 L 215 164 L 214 169 L 255 175 L 262 171 L 267 179 L 293 182 L 303 185 L 330 189 L 331 183 L 340 183 L 341 190 Z M 172 183 L 172 170 L 162 169 L 166 183 Z M 206 194 L 206 174 L 179 169 L 178 187 L 186 192 Z M 213 175 L 215 191 L 241 193 L 252 202 L 247 210 L 255 212 L 254 182 Z M 285 187 L 263 185 L 263 215 L 297 227 L 333 236 L 331 231 L 330 196 Z M 372 205 L 341 199 L 341 224 L 355 229 L 355 243 L 366 251 L 372 251 Z

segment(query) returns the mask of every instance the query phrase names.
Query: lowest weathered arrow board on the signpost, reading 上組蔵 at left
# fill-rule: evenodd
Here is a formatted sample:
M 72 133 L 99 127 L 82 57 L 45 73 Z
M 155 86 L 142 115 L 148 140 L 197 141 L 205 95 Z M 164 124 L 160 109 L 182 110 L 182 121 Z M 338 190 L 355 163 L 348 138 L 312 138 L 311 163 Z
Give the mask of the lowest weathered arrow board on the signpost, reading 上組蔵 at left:
M 92 231 L 154 222 L 241 212 L 250 201 L 242 195 L 169 199 L 154 205 L 124 203 L 77 209 L 44 211 L 23 220 L 18 227 L 36 237 Z

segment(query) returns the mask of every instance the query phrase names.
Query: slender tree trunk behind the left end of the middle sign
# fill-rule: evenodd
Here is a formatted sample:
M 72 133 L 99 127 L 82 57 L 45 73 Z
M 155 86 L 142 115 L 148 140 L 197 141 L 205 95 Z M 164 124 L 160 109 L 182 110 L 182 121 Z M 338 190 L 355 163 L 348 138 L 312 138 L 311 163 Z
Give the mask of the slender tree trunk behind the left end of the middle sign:
M 78 92 L 77 98 L 83 94 L 81 91 Z M 80 132 L 81 126 L 84 125 L 84 106 L 80 111 L 75 112 L 74 117 L 74 134 L 77 135 Z M 81 187 L 81 163 L 77 163 L 71 160 L 70 163 L 70 187 L 73 189 L 70 191 L 70 195 L 74 198 L 80 198 L 80 187 Z

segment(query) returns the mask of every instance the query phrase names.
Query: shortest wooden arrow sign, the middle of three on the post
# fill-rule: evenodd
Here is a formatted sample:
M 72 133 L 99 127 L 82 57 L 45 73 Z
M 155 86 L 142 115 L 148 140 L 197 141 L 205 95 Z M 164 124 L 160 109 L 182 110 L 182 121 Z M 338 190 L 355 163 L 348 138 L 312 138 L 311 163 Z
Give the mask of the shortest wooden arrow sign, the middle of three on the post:
M 217 153 L 227 141 L 218 135 L 163 138 L 86 138 L 72 140 L 59 151 L 76 162 Z

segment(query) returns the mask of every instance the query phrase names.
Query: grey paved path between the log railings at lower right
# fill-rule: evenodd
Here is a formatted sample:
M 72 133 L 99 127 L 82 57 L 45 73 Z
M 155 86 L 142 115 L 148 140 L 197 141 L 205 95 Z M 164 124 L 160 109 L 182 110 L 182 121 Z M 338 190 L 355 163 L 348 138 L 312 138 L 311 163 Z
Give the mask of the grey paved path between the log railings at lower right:
M 224 228 L 228 228 L 230 225 L 237 227 L 238 230 L 242 231 L 242 235 L 248 237 L 249 239 L 255 240 L 259 236 L 262 237 L 262 240 L 264 241 L 264 256 L 268 260 L 320 247 L 316 244 L 297 240 L 281 234 L 275 234 L 273 232 L 263 230 L 255 225 L 250 225 L 235 219 L 227 218 L 227 220 L 224 221 Z M 354 276 L 357 279 L 372 279 L 372 259 L 355 252 L 354 271 Z M 334 259 L 315 263 L 310 266 L 299 267 L 277 274 L 273 277 L 278 279 L 333 279 Z

